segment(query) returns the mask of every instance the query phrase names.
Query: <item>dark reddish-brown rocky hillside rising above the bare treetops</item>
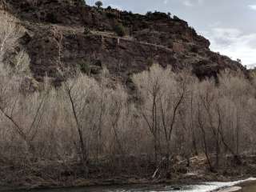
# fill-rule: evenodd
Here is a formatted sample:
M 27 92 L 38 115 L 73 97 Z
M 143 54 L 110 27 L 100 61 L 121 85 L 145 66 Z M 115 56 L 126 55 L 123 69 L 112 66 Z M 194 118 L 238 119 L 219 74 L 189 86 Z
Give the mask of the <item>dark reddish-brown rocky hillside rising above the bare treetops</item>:
M 211 52 L 210 42 L 177 17 L 98 10 L 82 0 L 0 1 L 27 30 L 20 44 L 30 54 L 38 80 L 47 74 L 56 83 L 62 81 L 59 51 L 64 66 L 86 65 L 94 75 L 106 66 L 113 78 L 128 85 L 131 74 L 147 70 L 152 62 L 174 70 L 190 67 L 199 78 L 216 77 L 225 69 L 246 74 L 238 62 Z M 125 37 L 115 34 L 117 25 L 124 26 Z

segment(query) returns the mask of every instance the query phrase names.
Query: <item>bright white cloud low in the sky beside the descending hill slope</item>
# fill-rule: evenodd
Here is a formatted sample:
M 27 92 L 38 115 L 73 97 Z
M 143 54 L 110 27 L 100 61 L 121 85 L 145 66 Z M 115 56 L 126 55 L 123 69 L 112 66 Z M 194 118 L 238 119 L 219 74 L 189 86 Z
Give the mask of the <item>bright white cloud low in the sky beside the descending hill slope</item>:
M 202 31 L 202 34 L 210 39 L 210 49 L 227 55 L 236 60 L 240 58 L 242 64 L 254 66 L 256 62 L 256 33 L 243 34 L 241 30 L 234 28 L 213 28 L 210 31 Z

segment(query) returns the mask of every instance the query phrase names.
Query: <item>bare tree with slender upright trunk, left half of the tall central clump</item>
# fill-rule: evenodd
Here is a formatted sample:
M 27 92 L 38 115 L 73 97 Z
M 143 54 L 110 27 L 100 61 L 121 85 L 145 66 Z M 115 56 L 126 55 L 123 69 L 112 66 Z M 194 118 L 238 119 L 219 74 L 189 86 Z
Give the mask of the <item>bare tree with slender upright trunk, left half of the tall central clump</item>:
M 161 66 L 154 64 L 150 67 L 150 71 L 135 74 L 133 77 L 138 89 L 138 97 L 142 99 L 141 105 L 138 106 L 139 113 L 154 138 L 155 167 L 158 166 L 158 153 L 160 150 L 160 103 L 162 95 L 166 91 L 166 78 L 170 77 L 170 73 L 170 69 L 163 70 Z

